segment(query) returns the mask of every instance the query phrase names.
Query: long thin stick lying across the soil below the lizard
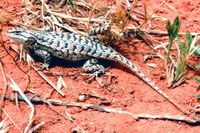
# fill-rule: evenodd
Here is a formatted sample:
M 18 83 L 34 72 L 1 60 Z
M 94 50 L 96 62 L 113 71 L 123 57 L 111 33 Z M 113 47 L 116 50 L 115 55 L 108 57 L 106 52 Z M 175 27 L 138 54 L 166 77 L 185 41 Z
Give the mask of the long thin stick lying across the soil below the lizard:
M 67 106 L 67 107 L 79 107 L 84 110 L 87 109 L 92 109 L 100 112 L 107 112 L 107 113 L 117 113 L 117 114 L 127 114 L 133 117 L 134 119 L 159 119 L 159 120 L 171 120 L 171 121 L 180 121 L 180 122 L 185 122 L 188 124 L 195 124 L 200 122 L 200 118 L 198 116 L 186 116 L 186 115 L 150 115 L 150 114 L 133 114 L 128 111 L 123 111 L 120 109 L 115 109 L 115 108 L 107 108 L 103 107 L 100 105 L 95 105 L 95 104 L 87 104 L 87 103 L 78 103 L 78 102 L 63 102 L 60 100 L 56 99 L 46 99 L 44 101 L 40 97 L 32 97 L 30 95 L 26 95 L 27 98 L 30 99 L 31 102 L 35 104 L 43 104 L 50 102 L 54 106 Z M 0 96 L 2 98 L 2 96 Z M 6 95 L 5 99 L 9 99 L 11 101 L 14 101 L 14 95 Z M 24 101 L 23 97 L 18 95 L 19 101 Z

